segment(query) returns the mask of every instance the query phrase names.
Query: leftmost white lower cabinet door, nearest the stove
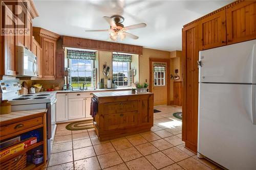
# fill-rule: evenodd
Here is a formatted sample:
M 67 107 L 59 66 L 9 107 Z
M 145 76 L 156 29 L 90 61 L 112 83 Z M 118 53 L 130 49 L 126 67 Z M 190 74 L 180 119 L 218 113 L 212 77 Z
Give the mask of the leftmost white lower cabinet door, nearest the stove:
M 56 94 L 56 122 L 68 120 L 68 94 Z

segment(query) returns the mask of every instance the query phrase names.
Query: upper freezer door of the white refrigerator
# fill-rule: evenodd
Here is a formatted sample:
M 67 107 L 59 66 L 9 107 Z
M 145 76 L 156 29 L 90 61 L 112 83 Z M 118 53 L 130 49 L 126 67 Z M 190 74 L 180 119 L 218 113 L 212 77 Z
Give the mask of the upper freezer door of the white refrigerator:
M 199 82 L 256 84 L 256 40 L 199 52 Z

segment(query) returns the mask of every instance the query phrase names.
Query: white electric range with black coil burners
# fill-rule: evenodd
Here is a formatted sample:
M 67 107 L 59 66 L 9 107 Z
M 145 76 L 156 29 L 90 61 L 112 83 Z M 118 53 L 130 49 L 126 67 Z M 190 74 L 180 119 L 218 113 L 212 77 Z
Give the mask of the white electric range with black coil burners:
M 11 103 L 12 111 L 47 109 L 48 158 L 50 158 L 53 139 L 56 131 L 56 92 L 39 92 L 19 95 L 19 79 L 0 80 L 2 100 Z

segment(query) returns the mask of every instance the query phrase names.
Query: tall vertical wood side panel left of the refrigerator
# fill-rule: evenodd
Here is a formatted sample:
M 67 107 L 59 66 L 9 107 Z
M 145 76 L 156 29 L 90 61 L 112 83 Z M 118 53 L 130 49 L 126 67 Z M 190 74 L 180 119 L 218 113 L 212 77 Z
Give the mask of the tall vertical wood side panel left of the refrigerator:
M 182 31 L 182 140 L 197 152 L 198 132 L 198 23 Z

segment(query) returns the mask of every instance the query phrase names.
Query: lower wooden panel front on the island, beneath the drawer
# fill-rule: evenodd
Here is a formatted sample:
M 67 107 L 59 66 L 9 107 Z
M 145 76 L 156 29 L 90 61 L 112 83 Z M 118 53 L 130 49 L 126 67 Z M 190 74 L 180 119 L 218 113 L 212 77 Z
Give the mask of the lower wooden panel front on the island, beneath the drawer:
M 138 112 L 108 114 L 104 117 L 104 131 L 138 125 Z

